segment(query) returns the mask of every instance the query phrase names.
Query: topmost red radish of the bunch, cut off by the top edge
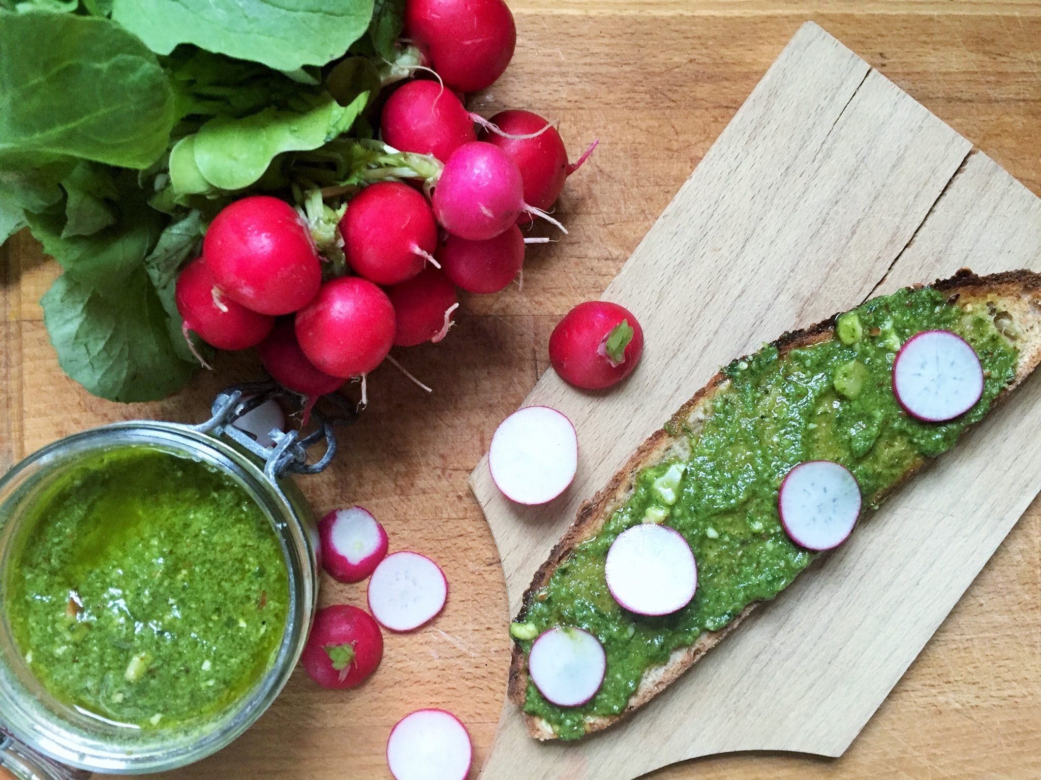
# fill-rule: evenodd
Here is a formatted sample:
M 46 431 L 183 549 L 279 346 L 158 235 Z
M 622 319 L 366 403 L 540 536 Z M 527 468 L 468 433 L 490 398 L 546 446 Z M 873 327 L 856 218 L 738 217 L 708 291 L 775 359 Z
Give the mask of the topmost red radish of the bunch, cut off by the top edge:
M 503 0 L 409 0 L 405 31 L 445 83 L 463 93 L 502 76 L 517 42 Z

